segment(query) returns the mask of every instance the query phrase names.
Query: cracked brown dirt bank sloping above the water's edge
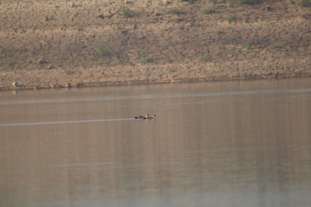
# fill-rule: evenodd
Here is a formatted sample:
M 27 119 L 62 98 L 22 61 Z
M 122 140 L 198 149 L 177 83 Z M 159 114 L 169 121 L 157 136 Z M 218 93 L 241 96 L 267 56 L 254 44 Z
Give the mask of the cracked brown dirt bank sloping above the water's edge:
M 0 0 L 0 90 L 311 76 L 310 8 L 230 2 Z

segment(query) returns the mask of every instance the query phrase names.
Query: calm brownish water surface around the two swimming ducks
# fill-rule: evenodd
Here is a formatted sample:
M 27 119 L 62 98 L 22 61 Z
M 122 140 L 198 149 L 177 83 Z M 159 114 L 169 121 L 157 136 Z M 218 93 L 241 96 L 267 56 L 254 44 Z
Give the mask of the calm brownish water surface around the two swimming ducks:
M 311 204 L 311 79 L 0 91 L 0 114 L 0 206 Z

